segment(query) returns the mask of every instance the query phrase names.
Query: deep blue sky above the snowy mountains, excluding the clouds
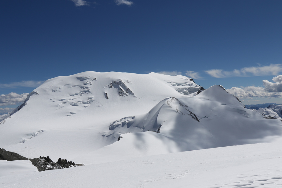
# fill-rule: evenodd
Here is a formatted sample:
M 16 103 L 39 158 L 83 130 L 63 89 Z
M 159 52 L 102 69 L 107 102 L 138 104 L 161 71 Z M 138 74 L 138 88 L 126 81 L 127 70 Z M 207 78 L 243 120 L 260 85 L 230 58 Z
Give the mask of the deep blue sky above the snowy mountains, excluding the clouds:
M 215 78 L 204 72 L 282 67 L 280 0 L 87 2 L 0 1 L 0 94 L 34 89 L 3 84 L 83 71 L 188 70 L 202 77 L 197 84 L 226 89 L 263 86 L 262 80 L 282 73 Z

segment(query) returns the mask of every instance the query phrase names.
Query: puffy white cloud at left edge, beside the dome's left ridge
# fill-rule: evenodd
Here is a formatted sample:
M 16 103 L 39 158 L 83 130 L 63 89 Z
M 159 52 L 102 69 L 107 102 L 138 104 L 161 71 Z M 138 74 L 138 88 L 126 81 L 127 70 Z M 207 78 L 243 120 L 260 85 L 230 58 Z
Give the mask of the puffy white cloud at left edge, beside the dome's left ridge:
M 9 93 L 0 95 L 0 106 L 15 105 L 25 101 L 28 93 Z

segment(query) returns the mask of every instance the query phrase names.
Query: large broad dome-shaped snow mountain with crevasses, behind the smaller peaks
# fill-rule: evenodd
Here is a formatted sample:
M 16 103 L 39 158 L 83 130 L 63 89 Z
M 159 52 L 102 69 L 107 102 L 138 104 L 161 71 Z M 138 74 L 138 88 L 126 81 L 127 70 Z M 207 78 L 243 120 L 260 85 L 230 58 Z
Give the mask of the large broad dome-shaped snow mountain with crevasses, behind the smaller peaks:
M 115 119 L 148 112 L 166 97 L 200 86 L 184 76 L 83 72 L 47 80 L 0 124 L 0 148 L 26 157 L 74 157 L 116 140 L 102 137 Z

